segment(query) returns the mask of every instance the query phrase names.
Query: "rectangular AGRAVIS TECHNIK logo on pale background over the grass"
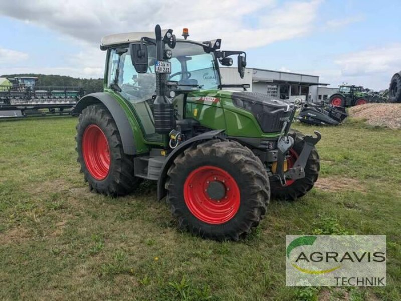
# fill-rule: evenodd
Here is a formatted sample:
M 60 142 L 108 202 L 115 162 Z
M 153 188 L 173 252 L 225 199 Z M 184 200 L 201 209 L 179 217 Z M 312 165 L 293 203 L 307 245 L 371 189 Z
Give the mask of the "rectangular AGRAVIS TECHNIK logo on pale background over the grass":
M 287 285 L 385 285 L 385 236 L 288 235 Z

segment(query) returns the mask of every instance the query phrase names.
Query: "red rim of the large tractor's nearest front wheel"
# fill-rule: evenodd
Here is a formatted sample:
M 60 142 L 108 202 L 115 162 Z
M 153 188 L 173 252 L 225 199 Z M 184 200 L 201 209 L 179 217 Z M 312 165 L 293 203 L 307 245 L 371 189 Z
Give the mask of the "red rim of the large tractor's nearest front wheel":
M 224 187 L 225 194 L 215 200 L 208 194 L 212 182 Z M 225 170 L 203 166 L 192 171 L 184 183 L 184 201 L 197 219 L 208 224 L 223 224 L 231 220 L 240 208 L 241 194 L 237 182 Z

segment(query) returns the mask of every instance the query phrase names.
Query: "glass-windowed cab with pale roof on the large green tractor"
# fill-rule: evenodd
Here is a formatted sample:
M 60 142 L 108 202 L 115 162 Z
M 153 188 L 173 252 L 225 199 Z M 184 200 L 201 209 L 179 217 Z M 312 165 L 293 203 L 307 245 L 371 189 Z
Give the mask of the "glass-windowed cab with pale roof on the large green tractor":
M 170 33 L 162 31 L 162 34 L 165 40 Z M 214 97 L 219 91 L 224 92 L 219 64 L 231 66 L 234 62 L 231 56 L 237 55 L 238 72 L 241 77 L 244 76 L 246 54 L 242 51 L 220 51 L 220 39 L 196 42 L 174 38 L 173 42 L 164 45 L 161 61 L 157 57 L 154 36 L 154 33 L 127 33 L 102 39 L 101 49 L 107 50 L 104 89 L 129 102 L 145 140 L 162 142 L 163 134 L 168 134 L 175 127 L 175 120 L 172 119 L 188 121 L 189 117 L 191 121 L 188 122 L 191 123 L 199 119 L 205 108 L 192 109 L 190 102 L 195 100 L 195 95 L 200 95 L 197 98 L 200 100 L 202 96 Z M 159 92 L 157 82 L 160 83 Z M 169 103 L 174 112 L 174 116 L 169 116 L 169 127 L 163 124 L 158 126 L 158 130 L 157 114 L 155 120 L 157 94 L 162 94 L 159 95 L 162 101 Z M 221 104 L 215 105 L 221 107 Z M 201 123 L 209 127 L 216 115 L 222 114 L 222 109 L 209 109 L 206 113 L 211 118 Z M 193 133 L 187 135 L 193 136 Z

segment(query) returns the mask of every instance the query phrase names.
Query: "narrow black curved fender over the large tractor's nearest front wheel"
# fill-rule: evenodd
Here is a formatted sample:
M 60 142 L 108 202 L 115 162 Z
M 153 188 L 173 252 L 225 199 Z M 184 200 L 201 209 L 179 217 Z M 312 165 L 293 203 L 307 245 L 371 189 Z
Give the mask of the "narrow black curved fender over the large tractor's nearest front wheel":
M 190 147 L 193 143 L 197 143 L 200 141 L 206 141 L 206 140 L 211 140 L 211 139 L 216 139 L 216 138 L 225 138 L 227 137 L 223 132 L 224 129 L 216 129 L 212 131 L 208 131 L 206 133 L 194 136 L 181 144 L 179 144 L 174 150 L 168 155 L 166 161 L 164 161 L 163 166 L 161 167 L 161 172 L 159 179 L 157 181 L 157 200 L 160 201 L 162 198 L 165 197 L 166 195 L 166 190 L 164 188 L 164 183 L 167 178 L 167 172 L 168 169 L 170 168 L 171 164 L 174 162 L 174 159 L 177 158 L 179 154 L 181 154 L 185 149 Z

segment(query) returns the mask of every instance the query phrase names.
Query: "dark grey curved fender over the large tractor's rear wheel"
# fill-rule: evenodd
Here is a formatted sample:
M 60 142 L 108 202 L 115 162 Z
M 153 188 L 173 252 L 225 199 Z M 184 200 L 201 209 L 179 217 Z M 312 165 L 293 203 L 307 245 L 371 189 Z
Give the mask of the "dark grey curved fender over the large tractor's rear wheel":
M 72 110 L 72 115 L 78 116 L 84 108 L 89 105 L 102 103 L 108 109 L 121 136 L 121 142 L 124 153 L 127 155 L 136 154 L 136 145 L 134 140 L 134 132 L 128 121 L 124 109 L 120 106 L 116 99 L 109 93 L 92 93 L 82 97 Z

